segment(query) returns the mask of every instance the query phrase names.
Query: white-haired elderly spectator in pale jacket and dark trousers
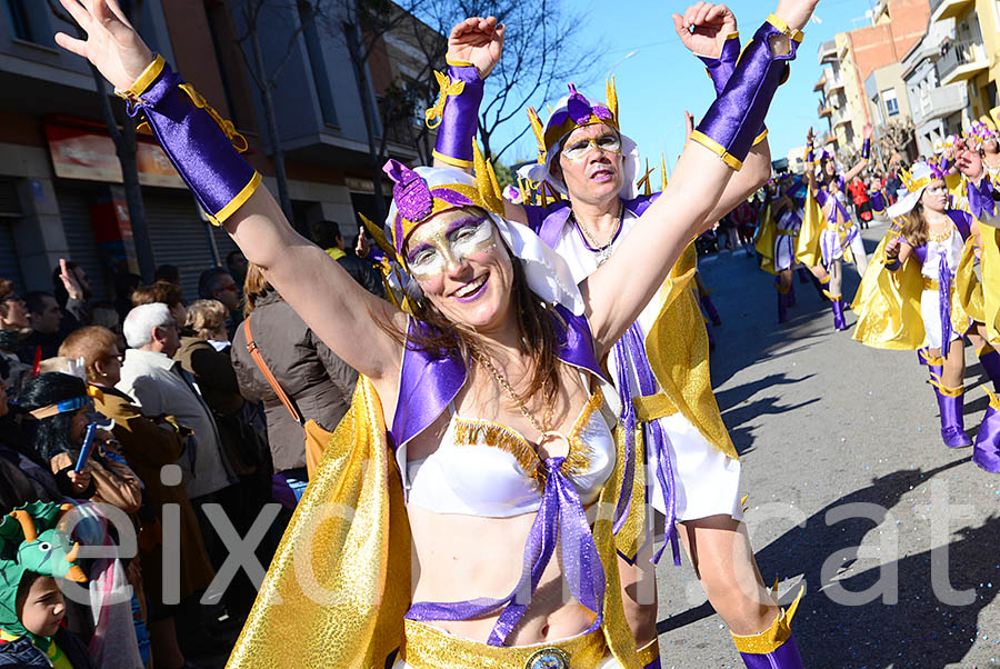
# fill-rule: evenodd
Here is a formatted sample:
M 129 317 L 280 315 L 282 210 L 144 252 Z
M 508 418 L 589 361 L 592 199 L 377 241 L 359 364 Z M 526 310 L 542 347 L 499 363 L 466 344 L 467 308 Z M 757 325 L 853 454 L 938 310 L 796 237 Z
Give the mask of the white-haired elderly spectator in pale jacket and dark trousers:
M 216 421 L 194 378 L 173 360 L 180 347 L 177 323 L 167 304 L 154 302 L 129 311 L 122 332 L 129 350 L 116 388 L 132 397 L 146 416 L 168 413 L 194 431 L 194 448 L 177 463 L 201 518 L 197 502 L 217 501 L 209 496 L 230 487 L 237 478 L 222 453 Z

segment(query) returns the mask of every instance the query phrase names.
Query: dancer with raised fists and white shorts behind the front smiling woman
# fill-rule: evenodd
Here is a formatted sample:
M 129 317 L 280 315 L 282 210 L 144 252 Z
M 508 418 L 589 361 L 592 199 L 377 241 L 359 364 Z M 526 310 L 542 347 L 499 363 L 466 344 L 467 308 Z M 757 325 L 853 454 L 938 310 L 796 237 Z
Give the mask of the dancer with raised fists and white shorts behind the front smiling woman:
M 740 46 L 731 12 L 722 6 L 699 3 L 674 21 L 689 48 L 708 54 L 702 60 L 720 100 L 741 99 L 746 79 L 736 66 Z M 801 39 L 800 32 L 772 16 L 746 53 L 766 50 L 769 36 L 776 33 L 791 36 L 792 49 Z M 468 19 L 452 31 L 447 80 L 463 81 L 464 88 L 439 101 L 437 113 L 443 118 L 434 152 L 439 162 L 468 169 L 482 78 L 499 61 L 501 47 L 502 28 L 496 28 L 492 19 Z M 779 81 L 782 74 L 777 74 Z M 522 177 L 534 183 L 536 198 L 542 204 L 506 207 L 507 217 L 537 230 L 567 260 L 578 280 L 599 272 L 616 258 L 632 237 L 629 231 L 641 224 L 643 211 L 659 201 L 657 196 L 637 193 L 638 148 L 621 133 L 613 82 L 609 82 L 608 99 L 608 104 L 592 103 L 570 87 L 570 94 L 554 106 L 544 126 L 529 110 L 541 157 Z M 428 113 L 436 118 L 436 110 Z M 767 181 L 770 158 L 762 130 L 761 123 L 752 133 L 742 171 L 716 200 L 706 226 Z M 712 143 L 699 131 L 692 136 L 696 142 Z M 754 144 L 752 150 L 750 144 Z M 743 162 L 742 157 L 730 153 L 724 159 L 734 166 Z M 672 182 L 667 193 L 671 187 Z M 552 201 L 556 194 L 559 199 Z M 647 256 L 643 261 L 653 259 Z M 740 522 L 739 460 L 711 392 L 706 330 L 691 327 L 701 317 L 691 290 L 694 261 L 691 246 L 607 361 L 623 398 L 620 421 L 630 463 L 614 528 L 628 590 L 626 613 L 644 666 L 659 667 L 656 575 L 650 558 L 658 560 L 663 549 L 653 555 L 647 529 L 652 522 L 646 513 L 649 501 L 667 519 L 668 542 L 678 563 L 680 529 L 696 556 L 702 586 L 730 625 L 748 666 L 799 667 L 789 628 L 793 609 L 783 613 L 767 592 Z M 674 525 L 678 521 L 680 526 Z M 733 561 L 733 555 L 739 559 Z

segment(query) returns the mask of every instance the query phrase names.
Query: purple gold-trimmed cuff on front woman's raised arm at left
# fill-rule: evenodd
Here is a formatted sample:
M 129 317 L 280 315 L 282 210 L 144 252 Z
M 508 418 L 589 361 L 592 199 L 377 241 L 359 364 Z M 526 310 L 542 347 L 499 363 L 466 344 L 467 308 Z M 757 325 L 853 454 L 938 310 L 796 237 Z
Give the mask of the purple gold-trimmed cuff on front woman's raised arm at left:
M 226 122 L 228 131 L 223 131 L 213 118 L 218 114 L 210 113 L 214 110 L 181 83 L 180 76 L 163 63 L 149 87 L 129 99 L 127 111 L 143 116 L 194 199 L 219 226 L 250 199 L 260 186 L 260 174 L 233 147 L 230 137 L 239 136 L 232 124 Z

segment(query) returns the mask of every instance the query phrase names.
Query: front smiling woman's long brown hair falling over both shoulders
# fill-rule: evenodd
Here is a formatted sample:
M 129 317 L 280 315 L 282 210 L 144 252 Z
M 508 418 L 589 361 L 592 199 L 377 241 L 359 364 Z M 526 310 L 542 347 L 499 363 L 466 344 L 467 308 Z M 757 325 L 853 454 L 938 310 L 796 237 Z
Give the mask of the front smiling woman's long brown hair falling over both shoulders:
M 511 257 L 511 261 L 513 281 L 510 309 L 514 312 L 521 348 L 536 361 L 531 382 L 528 389 L 519 395 L 519 399 L 527 403 L 540 392 L 546 403 L 551 406 L 559 393 L 558 351 L 560 338 L 564 332 L 560 333 L 557 329 L 558 314 L 531 291 L 524 268 L 517 258 Z M 489 357 L 482 337 L 473 329 L 452 322 L 427 298 L 413 300 L 413 303 L 412 316 L 424 327 L 409 336 L 391 323 L 380 319 L 376 322 L 397 341 L 412 350 L 442 357 L 459 356 L 467 361 L 477 353 Z

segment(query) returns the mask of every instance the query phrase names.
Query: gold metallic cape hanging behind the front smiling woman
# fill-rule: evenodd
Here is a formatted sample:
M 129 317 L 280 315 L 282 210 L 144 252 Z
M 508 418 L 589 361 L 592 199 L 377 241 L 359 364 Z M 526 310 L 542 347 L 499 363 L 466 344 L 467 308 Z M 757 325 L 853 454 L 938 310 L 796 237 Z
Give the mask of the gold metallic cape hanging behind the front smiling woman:
M 403 640 L 411 539 L 402 483 L 374 386 L 359 377 L 351 408 L 281 539 L 227 668 L 382 669 Z M 608 588 L 603 633 L 640 669 L 624 620 L 612 518 L 623 450 L 601 491 L 594 542 Z

